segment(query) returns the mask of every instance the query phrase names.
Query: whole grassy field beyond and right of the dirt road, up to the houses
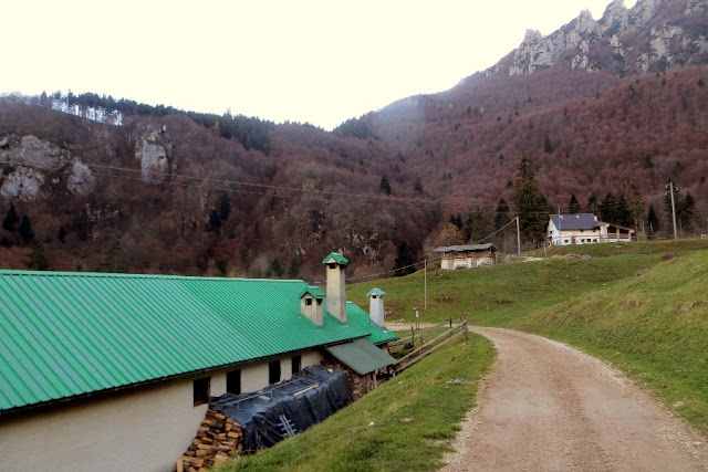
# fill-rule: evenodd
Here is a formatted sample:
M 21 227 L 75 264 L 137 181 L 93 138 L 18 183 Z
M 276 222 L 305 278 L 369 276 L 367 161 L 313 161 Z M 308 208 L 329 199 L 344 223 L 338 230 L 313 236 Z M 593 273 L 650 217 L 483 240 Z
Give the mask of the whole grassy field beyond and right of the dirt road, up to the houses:
M 591 259 L 561 259 L 571 253 Z M 421 321 L 467 313 L 470 324 L 569 343 L 615 364 L 708 433 L 708 241 L 565 247 L 545 255 L 428 271 Z M 373 284 L 361 285 L 350 290 L 357 303 Z M 395 319 L 410 322 L 423 306 L 421 273 L 376 285 L 388 293 Z

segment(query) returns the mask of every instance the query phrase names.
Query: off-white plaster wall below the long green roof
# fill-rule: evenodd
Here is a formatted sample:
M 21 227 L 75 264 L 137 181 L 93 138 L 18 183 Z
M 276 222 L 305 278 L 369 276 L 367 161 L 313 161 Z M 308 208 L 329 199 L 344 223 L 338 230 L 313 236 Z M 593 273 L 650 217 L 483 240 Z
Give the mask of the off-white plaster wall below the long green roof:
M 301 356 L 302 367 L 323 358 Z M 291 357 L 280 360 L 281 379 L 289 379 Z M 194 379 L 211 377 L 210 395 L 220 396 L 235 368 L 0 416 L 0 470 L 171 471 L 207 411 L 194 406 Z M 268 385 L 268 361 L 240 368 L 242 391 Z

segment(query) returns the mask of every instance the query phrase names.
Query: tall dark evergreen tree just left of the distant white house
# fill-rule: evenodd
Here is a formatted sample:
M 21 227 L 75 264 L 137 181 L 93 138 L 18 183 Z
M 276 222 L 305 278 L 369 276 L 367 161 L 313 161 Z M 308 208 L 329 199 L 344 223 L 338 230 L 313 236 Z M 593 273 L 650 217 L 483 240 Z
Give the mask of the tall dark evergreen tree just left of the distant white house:
M 552 208 L 541 193 L 531 164 L 525 157 L 521 159 L 517 176 L 513 201 L 519 212 L 521 235 L 524 241 L 542 240 Z

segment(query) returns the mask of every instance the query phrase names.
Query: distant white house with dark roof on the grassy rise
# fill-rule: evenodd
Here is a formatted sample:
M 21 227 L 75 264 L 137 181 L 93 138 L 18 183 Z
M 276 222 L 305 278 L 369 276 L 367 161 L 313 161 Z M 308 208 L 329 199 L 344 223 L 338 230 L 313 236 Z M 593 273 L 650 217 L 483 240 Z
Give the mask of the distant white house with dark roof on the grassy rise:
M 635 230 L 600 221 L 592 213 L 549 216 L 546 229 L 546 243 L 549 245 L 628 242 L 635 239 Z

